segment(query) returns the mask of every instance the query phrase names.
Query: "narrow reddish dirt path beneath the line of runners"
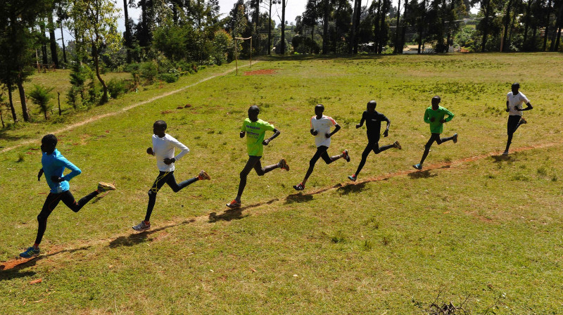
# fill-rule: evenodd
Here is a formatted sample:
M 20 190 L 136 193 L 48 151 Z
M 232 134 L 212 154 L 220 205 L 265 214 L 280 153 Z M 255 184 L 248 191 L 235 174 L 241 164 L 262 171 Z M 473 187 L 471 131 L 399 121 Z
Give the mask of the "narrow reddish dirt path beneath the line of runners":
M 512 153 L 514 152 L 521 152 L 521 151 L 527 151 L 527 150 L 533 150 L 533 149 L 542 149 L 542 148 L 550 148 L 552 146 L 561 146 L 563 143 L 544 143 L 544 144 L 540 144 L 538 146 L 526 146 L 526 147 L 522 147 L 522 148 L 516 148 L 512 150 Z M 272 211 L 272 207 L 271 205 L 275 205 L 278 203 L 285 203 L 286 201 L 296 201 L 296 200 L 308 200 L 308 199 L 312 199 L 313 195 L 317 195 L 320 193 L 324 193 L 327 191 L 333 191 L 336 190 L 338 188 L 342 188 L 342 187 L 346 187 L 346 186 L 355 186 L 358 184 L 365 184 L 365 183 L 370 183 L 370 182 L 374 182 L 374 181 L 384 181 L 386 179 L 390 179 L 392 177 L 396 177 L 396 176 L 405 176 L 407 174 L 415 174 L 415 173 L 421 173 L 424 174 L 425 172 L 429 172 L 431 170 L 434 169 L 445 169 L 445 168 L 449 168 L 449 167 L 456 167 L 458 165 L 462 165 L 464 163 L 467 162 L 473 162 L 476 160 L 483 160 L 485 158 L 491 157 L 491 156 L 499 156 L 500 158 L 510 158 L 510 155 L 507 157 L 502 157 L 501 152 L 492 152 L 492 153 L 486 153 L 486 154 L 482 154 L 482 155 L 475 155 L 469 158 L 462 158 L 460 160 L 455 160 L 452 162 L 438 162 L 436 164 L 433 165 L 428 165 L 426 167 L 424 167 L 423 171 L 417 171 L 416 169 L 407 169 L 407 170 L 403 170 L 403 171 L 399 171 L 399 172 L 394 172 L 394 173 L 389 173 L 389 174 L 384 174 L 384 175 L 380 175 L 380 176 L 375 176 L 375 177 L 371 177 L 371 178 L 367 178 L 364 179 L 362 181 L 355 181 L 355 182 L 350 182 L 350 181 L 346 181 L 344 183 L 339 183 L 336 184 L 334 186 L 330 186 L 330 187 L 325 187 L 325 188 L 320 188 L 317 189 L 315 191 L 310 191 L 308 193 L 294 193 L 291 195 L 288 195 L 285 198 L 274 198 L 272 200 L 267 200 L 264 201 L 262 203 L 255 203 L 253 205 L 248 205 L 245 207 L 241 207 L 239 209 L 235 209 L 235 210 L 224 210 L 221 214 L 217 214 L 216 212 L 211 212 L 208 215 L 201 215 L 199 217 L 193 217 L 190 219 L 179 219 L 179 220 L 172 220 L 172 221 L 167 221 L 164 224 L 162 224 L 161 226 L 157 227 L 156 229 L 151 229 L 150 231 L 146 231 L 146 232 L 142 232 L 142 233 L 131 233 L 128 229 L 127 231 L 123 231 L 122 233 L 117 233 L 113 236 L 110 236 L 108 238 L 103 238 L 103 239 L 99 239 L 99 240 L 90 240 L 87 242 L 82 242 L 80 244 L 75 243 L 75 244 L 68 244 L 68 245 L 53 245 L 51 246 L 51 248 L 49 249 L 48 252 L 39 255 L 39 257 L 34 257 L 32 259 L 20 259 L 20 258 L 15 258 L 15 259 L 10 259 L 7 262 L 2 262 L 0 264 L 0 271 L 4 270 L 10 270 L 10 269 L 14 269 L 14 270 L 18 270 L 18 269 L 24 269 L 28 266 L 34 266 L 35 264 L 37 264 L 37 262 L 40 262 L 42 259 L 46 259 L 47 262 L 51 262 L 50 257 L 53 256 L 58 256 L 58 257 L 64 257 L 65 254 L 69 255 L 72 252 L 76 252 L 76 251 L 80 251 L 80 250 L 87 250 L 89 248 L 91 248 L 92 246 L 96 246 L 96 245 L 106 245 L 108 247 L 113 247 L 113 246 L 120 246 L 120 245 L 129 245 L 129 244 L 134 244 L 134 243 L 140 243 L 140 241 L 145 240 L 148 236 L 150 236 L 151 234 L 156 234 L 158 233 L 153 239 L 154 240 L 160 240 L 161 235 L 163 235 L 163 233 L 166 233 L 165 230 L 166 229 L 170 229 L 174 226 L 181 226 L 184 224 L 208 224 L 208 223 L 213 223 L 215 221 L 230 221 L 232 219 L 237 219 L 237 218 L 241 218 L 242 217 L 242 212 L 245 210 L 249 210 L 249 209 L 253 209 L 253 208 L 258 208 L 262 205 L 268 205 L 268 207 L 265 207 L 266 210 L 263 211 L 257 211 L 255 212 L 255 214 L 262 214 L 262 213 L 268 213 Z M 223 210 L 224 207 L 220 207 L 218 210 Z M 159 233 L 162 232 L 162 233 Z M 49 259 L 47 259 L 49 258 Z

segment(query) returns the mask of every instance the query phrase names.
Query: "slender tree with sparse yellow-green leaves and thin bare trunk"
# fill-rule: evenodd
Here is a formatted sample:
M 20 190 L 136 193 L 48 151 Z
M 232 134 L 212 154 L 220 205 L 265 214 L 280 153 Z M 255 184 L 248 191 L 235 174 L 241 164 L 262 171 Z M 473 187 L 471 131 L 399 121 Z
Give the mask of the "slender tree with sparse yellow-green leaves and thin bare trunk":
M 75 0 L 72 7 L 75 30 L 91 45 L 96 77 L 103 91 L 101 103 L 108 101 L 108 86 L 100 75 L 100 50 L 105 47 L 109 51 L 118 51 L 120 47 L 118 12 L 113 0 Z

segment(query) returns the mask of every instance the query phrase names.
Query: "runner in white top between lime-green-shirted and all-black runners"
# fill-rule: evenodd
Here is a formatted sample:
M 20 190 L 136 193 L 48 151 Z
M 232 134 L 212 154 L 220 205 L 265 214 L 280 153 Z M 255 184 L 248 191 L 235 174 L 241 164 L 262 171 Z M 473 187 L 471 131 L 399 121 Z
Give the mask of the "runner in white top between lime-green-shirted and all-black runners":
M 344 158 L 346 162 L 350 162 L 350 155 L 348 155 L 348 150 L 343 150 L 341 154 L 329 157 L 327 150 L 330 146 L 330 139 L 333 134 L 336 134 L 340 130 L 340 125 L 336 124 L 336 121 L 332 117 L 322 115 L 324 112 L 324 105 L 317 104 L 315 106 L 315 116 L 311 117 L 311 129 L 310 133 L 315 136 L 315 145 L 317 146 L 317 152 L 312 156 L 309 161 L 309 169 L 305 174 L 305 178 L 301 183 L 293 186 L 296 191 L 303 191 L 305 189 L 305 184 L 309 176 L 312 174 L 312 170 L 315 168 L 315 163 L 322 158 L 325 163 L 330 164 L 339 158 Z M 334 126 L 334 130 L 331 132 L 330 128 Z

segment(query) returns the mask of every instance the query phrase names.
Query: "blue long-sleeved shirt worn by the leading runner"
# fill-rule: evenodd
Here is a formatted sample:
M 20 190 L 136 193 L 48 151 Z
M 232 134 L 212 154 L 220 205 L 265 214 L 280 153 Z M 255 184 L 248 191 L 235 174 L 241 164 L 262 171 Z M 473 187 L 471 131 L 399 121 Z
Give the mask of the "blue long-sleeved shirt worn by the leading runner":
M 68 191 L 70 188 L 68 181 L 70 181 L 72 177 L 82 173 L 78 167 L 67 160 L 60 152 L 58 152 L 57 149 L 55 149 L 51 154 L 44 152 L 41 158 L 41 164 L 43 165 L 43 172 L 47 185 L 51 188 L 51 193 L 62 193 L 63 191 Z M 70 169 L 71 172 L 63 176 L 65 168 Z M 53 181 L 51 181 L 51 176 L 53 175 L 63 177 L 65 181 L 61 181 L 61 183 L 53 183 Z

